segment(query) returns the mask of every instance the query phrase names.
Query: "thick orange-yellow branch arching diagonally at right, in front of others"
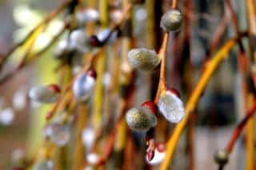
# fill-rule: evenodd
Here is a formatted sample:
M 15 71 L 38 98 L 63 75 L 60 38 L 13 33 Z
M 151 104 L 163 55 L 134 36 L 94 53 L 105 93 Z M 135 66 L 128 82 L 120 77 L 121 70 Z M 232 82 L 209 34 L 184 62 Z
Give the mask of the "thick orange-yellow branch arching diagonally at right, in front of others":
M 245 35 L 242 35 L 245 36 Z M 186 103 L 185 117 L 184 119 L 174 128 L 173 134 L 170 136 L 166 144 L 166 158 L 161 164 L 161 170 L 168 168 L 170 160 L 174 155 L 174 149 L 178 143 L 178 139 L 182 134 L 183 129 L 186 127 L 187 122 L 189 121 L 190 114 L 194 111 L 194 108 L 198 104 L 198 99 L 201 97 L 204 89 L 206 88 L 207 83 L 210 80 L 211 75 L 217 69 L 218 64 L 227 57 L 230 49 L 236 44 L 238 38 L 233 38 L 228 40 L 221 49 L 215 53 L 209 63 L 206 65 L 206 71 L 202 74 L 202 77 L 198 81 L 193 93 L 191 94 L 189 101 Z

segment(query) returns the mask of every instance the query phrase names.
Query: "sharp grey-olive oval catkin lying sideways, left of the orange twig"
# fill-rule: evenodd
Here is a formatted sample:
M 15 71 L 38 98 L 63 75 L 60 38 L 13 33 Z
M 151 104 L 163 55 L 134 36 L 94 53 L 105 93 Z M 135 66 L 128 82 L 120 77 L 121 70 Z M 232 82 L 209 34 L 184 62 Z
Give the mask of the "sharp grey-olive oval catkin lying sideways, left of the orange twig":
M 150 49 L 131 49 L 128 53 L 128 61 L 134 69 L 150 71 L 155 69 L 161 59 L 154 50 Z

